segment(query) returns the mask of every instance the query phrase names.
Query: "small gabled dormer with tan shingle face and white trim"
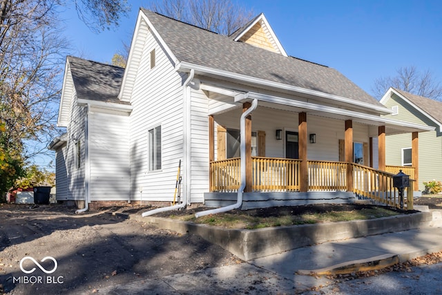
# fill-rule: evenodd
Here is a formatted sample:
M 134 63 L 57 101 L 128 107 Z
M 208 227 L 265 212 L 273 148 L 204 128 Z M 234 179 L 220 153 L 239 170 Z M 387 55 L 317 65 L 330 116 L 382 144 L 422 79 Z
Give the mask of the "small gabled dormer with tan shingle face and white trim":
M 271 26 L 263 13 L 234 32 L 232 37 L 235 41 L 251 44 L 287 57 L 287 53 L 285 53 L 284 48 L 282 48 L 280 41 L 271 29 Z

